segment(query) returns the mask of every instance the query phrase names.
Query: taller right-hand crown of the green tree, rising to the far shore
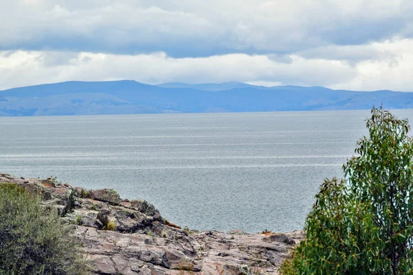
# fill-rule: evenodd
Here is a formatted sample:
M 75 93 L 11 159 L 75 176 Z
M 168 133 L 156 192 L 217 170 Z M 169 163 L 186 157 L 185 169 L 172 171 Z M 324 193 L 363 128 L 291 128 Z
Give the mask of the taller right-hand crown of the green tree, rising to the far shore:
M 358 142 L 356 152 L 343 167 L 352 194 L 364 203 L 379 226 L 383 240 L 383 265 L 391 273 L 413 267 L 413 140 L 407 120 L 383 109 L 373 109 L 367 121 L 370 138 Z M 407 261 L 407 262 L 406 262 Z M 409 263 L 410 262 L 410 263 Z M 388 272 L 390 273 L 390 272 Z

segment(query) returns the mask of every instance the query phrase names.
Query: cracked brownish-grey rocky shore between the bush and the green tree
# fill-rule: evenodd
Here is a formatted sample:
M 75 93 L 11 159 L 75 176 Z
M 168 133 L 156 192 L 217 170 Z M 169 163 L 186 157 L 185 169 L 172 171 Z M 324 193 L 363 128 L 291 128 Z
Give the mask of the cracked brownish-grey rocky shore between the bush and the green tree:
M 162 218 L 144 200 L 120 199 L 112 189 L 85 190 L 56 179 L 0 173 L 56 208 L 82 242 L 94 274 L 277 274 L 302 232 L 198 232 Z

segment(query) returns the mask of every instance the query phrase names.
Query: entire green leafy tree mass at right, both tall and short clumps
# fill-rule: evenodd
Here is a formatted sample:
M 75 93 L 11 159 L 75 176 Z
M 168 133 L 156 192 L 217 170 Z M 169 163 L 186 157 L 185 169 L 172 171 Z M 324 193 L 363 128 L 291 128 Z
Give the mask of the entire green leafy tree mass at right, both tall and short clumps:
M 413 274 L 413 140 L 407 120 L 372 109 L 346 181 L 326 180 L 306 240 L 282 274 Z

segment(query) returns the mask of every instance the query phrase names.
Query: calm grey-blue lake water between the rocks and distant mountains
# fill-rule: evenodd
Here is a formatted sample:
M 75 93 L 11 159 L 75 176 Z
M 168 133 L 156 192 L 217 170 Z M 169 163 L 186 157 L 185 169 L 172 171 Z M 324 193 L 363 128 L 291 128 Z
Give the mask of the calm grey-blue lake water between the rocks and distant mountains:
M 413 118 L 413 110 L 395 111 Z M 0 118 L 0 172 L 146 199 L 198 230 L 299 230 L 370 111 Z

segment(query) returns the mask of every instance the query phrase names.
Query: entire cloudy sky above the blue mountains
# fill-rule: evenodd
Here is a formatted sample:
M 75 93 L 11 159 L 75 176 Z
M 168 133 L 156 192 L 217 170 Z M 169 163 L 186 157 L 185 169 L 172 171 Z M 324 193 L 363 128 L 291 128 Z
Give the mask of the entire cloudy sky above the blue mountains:
M 412 0 L 0 0 L 0 89 L 67 80 L 413 91 Z

